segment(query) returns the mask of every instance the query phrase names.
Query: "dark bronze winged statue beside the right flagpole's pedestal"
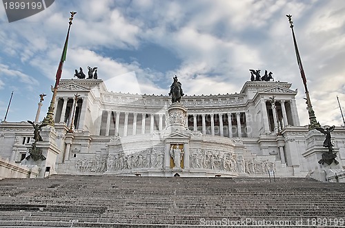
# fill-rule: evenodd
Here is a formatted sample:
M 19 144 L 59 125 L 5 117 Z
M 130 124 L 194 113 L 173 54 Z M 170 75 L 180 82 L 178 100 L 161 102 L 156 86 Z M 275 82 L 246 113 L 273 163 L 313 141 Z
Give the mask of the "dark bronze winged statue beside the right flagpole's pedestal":
M 322 154 L 322 159 L 319 160 L 319 164 L 324 165 L 324 163 L 331 165 L 334 161 L 335 165 L 338 165 L 339 162 L 335 160 L 337 158 L 337 154 L 334 153 L 334 145 L 331 142 L 331 132 L 335 129 L 335 126 L 332 127 L 326 127 L 326 130 L 322 127 L 316 127 L 319 132 L 322 132 L 324 135 L 326 135 L 326 138 L 324 140 L 323 146 L 328 148 L 328 152 L 325 152 Z

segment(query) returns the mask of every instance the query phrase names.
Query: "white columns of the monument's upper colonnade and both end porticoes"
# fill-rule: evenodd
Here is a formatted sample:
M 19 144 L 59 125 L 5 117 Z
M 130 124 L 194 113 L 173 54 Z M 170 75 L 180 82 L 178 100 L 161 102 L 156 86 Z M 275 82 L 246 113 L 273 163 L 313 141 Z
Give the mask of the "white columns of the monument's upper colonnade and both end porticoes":
M 55 122 L 65 122 L 70 125 L 72 110 L 75 112 L 75 128 L 85 125 L 87 97 L 60 97 L 55 103 Z M 77 105 L 75 107 L 75 105 Z M 288 101 L 270 101 L 263 97 L 257 103 L 257 110 L 261 118 L 257 119 L 255 112 L 221 112 L 193 114 L 190 110 L 186 127 L 212 136 L 251 137 L 254 130 L 264 129 L 264 132 L 277 132 L 287 125 L 299 125 L 295 99 Z M 159 113 L 139 113 L 126 111 L 99 110 L 98 123 L 95 123 L 96 134 L 103 136 L 129 136 L 135 134 L 152 133 L 164 129 L 166 115 Z M 79 124 L 81 123 L 81 124 Z M 254 134 L 255 135 L 255 134 Z

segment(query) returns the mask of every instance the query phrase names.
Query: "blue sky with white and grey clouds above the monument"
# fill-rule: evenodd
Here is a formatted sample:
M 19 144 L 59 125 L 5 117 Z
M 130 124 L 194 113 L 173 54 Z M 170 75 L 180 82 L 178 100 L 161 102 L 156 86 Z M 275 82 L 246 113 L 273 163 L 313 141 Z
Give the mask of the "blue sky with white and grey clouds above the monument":
M 168 94 L 177 74 L 186 94 L 239 92 L 249 69 L 293 83 L 301 125 L 308 124 L 304 87 L 286 14 L 293 15 L 317 121 L 342 125 L 345 107 L 345 1 L 57 0 L 32 17 L 8 23 L 0 6 L 0 119 L 34 120 L 39 94 L 48 110 L 68 29 L 62 79 L 98 67 L 108 90 Z M 139 84 L 128 83 L 136 77 Z M 135 85 L 134 85 L 135 84 Z M 139 85 L 139 86 L 138 86 Z M 344 110 L 345 111 L 345 110 Z

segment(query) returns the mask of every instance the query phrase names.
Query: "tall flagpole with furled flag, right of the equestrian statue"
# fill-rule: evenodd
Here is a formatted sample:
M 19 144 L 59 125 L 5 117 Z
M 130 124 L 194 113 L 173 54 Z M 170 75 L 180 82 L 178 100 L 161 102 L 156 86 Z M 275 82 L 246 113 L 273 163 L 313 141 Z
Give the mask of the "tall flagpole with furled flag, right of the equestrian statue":
M 304 74 L 304 70 L 303 70 L 303 65 L 302 65 L 302 60 L 301 60 L 301 56 L 299 56 L 299 51 L 298 51 L 298 47 L 297 47 L 297 41 L 296 41 L 296 37 L 295 37 L 295 32 L 293 30 L 293 21 L 291 19 L 291 15 L 286 15 L 286 17 L 288 17 L 288 22 L 290 23 L 290 28 L 293 32 L 293 44 L 295 45 L 295 52 L 296 52 L 296 57 L 297 57 L 297 64 L 299 66 L 299 72 L 301 73 L 302 76 L 302 81 L 304 84 L 304 91 L 306 93 L 306 104 L 307 104 L 307 110 L 308 110 L 308 115 L 309 115 L 309 127 L 308 129 L 315 129 L 316 127 L 320 127 L 319 122 L 317 122 L 316 120 L 316 116 L 313 110 L 313 106 L 311 105 L 311 97 L 309 96 L 309 91 L 308 91 L 308 87 L 306 85 L 306 74 Z

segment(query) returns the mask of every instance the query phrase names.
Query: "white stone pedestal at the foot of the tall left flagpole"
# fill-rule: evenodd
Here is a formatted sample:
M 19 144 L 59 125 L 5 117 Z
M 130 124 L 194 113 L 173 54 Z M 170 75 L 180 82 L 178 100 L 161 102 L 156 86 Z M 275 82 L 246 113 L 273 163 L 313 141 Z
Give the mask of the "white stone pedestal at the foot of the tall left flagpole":
M 40 134 L 43 141 L 37 142 L 36 147 L 41 149 L 42 155 L 46 160 L 34 160 L 32 158 L 28 158 L 28 160 L 24 159 L 22 164 L 27 165 L 28 167 L 37 165 L 39 167 L 39 174 L 37 177 L 44 178 L 52 174 L 57 174 L 55 171 L 55 163 L 57 161 L 57 155 L 60 153 L 60 149 L 57 147 L 57 143 L 55 141 L 57 134 L 54 127 L 47 125 L 42 128 Z

